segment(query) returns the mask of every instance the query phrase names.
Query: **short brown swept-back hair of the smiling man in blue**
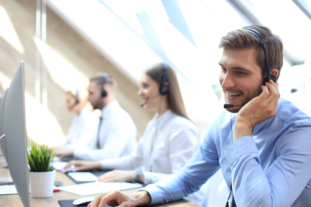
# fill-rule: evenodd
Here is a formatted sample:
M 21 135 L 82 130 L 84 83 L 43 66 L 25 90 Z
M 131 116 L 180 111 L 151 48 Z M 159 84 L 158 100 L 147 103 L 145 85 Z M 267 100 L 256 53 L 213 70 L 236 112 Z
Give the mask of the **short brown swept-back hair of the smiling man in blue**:
M 269 59 L 270 70 L 277 69 L 279 74 L 276 80 L 280 77 L 281 68 L 283 66 L 283 42 L 282 39 L 273 34 L 271 29 L 262 25 L 250 25 L 243 28 L 256 29 L 264 38 L 267 46 L 267 56 Z M 262 78 L 267 76 L 265 66 L 265 54 L 263 52 L 262 44 L 257 36 L 245 29 L 237 29 L 228 32 L 223 36 L 218 45 L 222 49 L 250 49 L 254 48 L 256 51 L 257 63 L 262 69 Z

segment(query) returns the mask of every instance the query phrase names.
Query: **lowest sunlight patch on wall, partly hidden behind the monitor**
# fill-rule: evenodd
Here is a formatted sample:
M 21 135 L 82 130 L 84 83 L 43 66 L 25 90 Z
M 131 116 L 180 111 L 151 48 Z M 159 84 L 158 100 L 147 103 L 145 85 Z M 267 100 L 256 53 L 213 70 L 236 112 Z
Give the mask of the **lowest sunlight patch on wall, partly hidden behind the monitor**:
M 11 81 L 0 71 L 0 84 L 3 89 L 7 89 Z M 65 141 L 65 135 L 55 116 L 27 92 L 25 92 L 25 114 L 27 136 L 33 141 L 52 146 Z

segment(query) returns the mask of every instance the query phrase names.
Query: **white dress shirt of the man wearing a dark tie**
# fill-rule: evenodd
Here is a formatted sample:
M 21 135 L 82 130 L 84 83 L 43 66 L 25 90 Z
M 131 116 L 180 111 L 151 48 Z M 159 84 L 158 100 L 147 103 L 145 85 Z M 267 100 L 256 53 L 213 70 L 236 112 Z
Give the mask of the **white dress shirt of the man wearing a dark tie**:
M 97 133 L 92 140 L 92 149 L 76 148 L 73 157 L 80 160 L 101 160 L 130 154 L 137 149 L 137 129 L 132 117 L 114 100 L 102 110 L 99 129 L 99 149 Z M 98 126 L 98 125 L 97 125 Z M 96 129 L 96 132 L 98 128 Z

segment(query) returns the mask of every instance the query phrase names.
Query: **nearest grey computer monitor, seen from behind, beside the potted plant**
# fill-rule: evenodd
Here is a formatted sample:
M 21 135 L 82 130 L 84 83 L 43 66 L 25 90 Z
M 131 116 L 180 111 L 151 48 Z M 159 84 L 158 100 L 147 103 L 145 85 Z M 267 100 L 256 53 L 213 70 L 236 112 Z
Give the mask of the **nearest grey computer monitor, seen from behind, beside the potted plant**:
M 7 165 L 14 186 L 24 207 L 30 207 L 24 61 L 21 61 L 18 66 L 7 91 L 4 109 L 4 134 Z

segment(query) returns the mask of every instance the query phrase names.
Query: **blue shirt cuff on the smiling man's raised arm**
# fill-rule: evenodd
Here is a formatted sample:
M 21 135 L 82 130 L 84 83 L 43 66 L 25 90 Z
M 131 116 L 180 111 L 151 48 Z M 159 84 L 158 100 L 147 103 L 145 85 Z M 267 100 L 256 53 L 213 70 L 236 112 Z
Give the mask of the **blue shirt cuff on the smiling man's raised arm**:
M 255 141 L 253 137 L 250 136 L 241 137 L 234 142 L 231 142 L 228 146 L 225 147 L 224 153 L 231 166 L 235 160 L 248 153 L 256 153 L 259 157 L 259 152 Z

